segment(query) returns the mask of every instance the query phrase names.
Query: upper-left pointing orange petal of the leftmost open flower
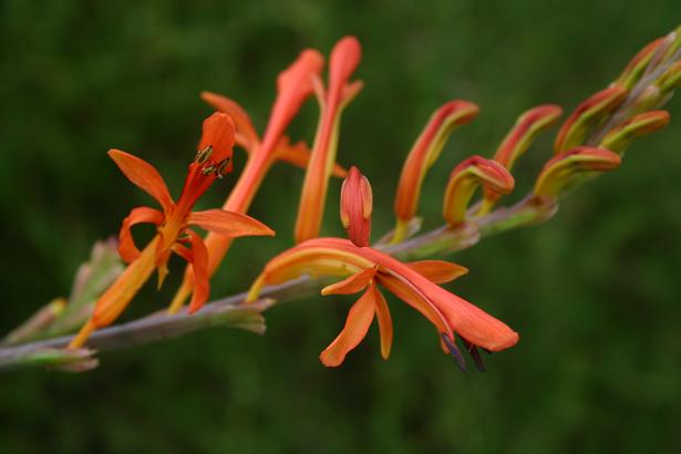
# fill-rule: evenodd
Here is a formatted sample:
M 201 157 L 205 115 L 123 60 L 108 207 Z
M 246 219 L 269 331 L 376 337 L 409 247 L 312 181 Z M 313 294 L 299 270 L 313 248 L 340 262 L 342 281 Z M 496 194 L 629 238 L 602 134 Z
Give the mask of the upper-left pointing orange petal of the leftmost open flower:
M 154 166 L 120 149 L 110 149 L 109 156 L 116 163 L 127 179 L 161 204 L 164 213 L 171 211 L 173 198 L 163 177 Z

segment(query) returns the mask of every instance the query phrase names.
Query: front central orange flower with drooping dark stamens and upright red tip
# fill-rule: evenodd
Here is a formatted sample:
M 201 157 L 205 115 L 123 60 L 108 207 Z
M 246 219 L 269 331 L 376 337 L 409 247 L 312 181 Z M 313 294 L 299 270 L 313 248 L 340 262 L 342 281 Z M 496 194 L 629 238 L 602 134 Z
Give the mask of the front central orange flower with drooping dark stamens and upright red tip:
M 369 182 L 352 167 L 343 186 L 341 218 L 344 218 L 343 224 L 352 240 L 310 239 L 272 258 L 254 282 L 247 301 L 255 301 L 265 285 L 281 283 L 302 275 L 347 277 L 324 287 L 322 295 L 351 295 L 365 290 L 350 309 L 343 330 L 320 355 L 321 362 L 328 367 L 340 365 L 348 352 L 362 341 L 374 314 L 381 333 L 381 354 L 385 359 L 390 355 L 392 320 L 379 285 L 436 327 L 443 350 L 450 352 L 462 369 L 465 362 L 455 344 L 455 333 L 478 365 L 482 362 L 476 347 L 499 351 L 518 341 L 518 334 L 505 323 L 437 286 L 464 275 L 467 272 L 465 268 L 440 260 L 404 264 L 364 246 L 369 235 L 367 218 L 371 214 Z

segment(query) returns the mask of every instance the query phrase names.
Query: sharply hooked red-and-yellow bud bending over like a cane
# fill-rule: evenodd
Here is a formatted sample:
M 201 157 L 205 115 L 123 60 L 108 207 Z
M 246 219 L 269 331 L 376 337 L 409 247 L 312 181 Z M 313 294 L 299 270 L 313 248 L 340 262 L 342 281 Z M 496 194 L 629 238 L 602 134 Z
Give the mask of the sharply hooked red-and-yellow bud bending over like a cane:
M 498 194 L 510 194 L 515 185 L 513 175 L 496 161 L 471 156 L 452 171 L 444 193 L 442 214 L 448 225 L 466 220 L 468 203 L 478 185 Z

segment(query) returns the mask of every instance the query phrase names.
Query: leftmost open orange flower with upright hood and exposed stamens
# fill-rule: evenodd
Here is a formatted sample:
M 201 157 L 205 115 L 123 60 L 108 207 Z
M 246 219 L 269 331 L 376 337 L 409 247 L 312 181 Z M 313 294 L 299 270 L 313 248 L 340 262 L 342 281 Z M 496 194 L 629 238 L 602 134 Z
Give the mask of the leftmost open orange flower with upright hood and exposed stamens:
M 177 203 L 171 197 L 163 177 L 151 164 L 125 152 L 109 152 L 123 174 L 154 197 L 162 210 L 137 207 L 123 220 L 118 251 L 128 266 L 96 301 L 91 319 L 71 342 L 71 348 L 82 345 L 94 329 L 112 323 L 148 280 L 154 269 L 158 270 L 161 287 L 168 272 L 167 261 L 173 252 L 187 260 L 194 271 L 196 291 L 189 311 L 194 312 L 205 303 L 209 293 L 208 255 L 200 236 L 189 229 L 190 226 L 229 238 L 275 234 L 264 224 L 239 213 L 223 209 L 192 211 L 213 182 L 231 172 L 234 130 L 234 122 L 224 113 L 215 113 L 204 121 L 198 153 L 189 164 Z M 144 250 L 140 251 L 133 241 L 131 227 L 142 223 L 156 225 L 157 233 Z

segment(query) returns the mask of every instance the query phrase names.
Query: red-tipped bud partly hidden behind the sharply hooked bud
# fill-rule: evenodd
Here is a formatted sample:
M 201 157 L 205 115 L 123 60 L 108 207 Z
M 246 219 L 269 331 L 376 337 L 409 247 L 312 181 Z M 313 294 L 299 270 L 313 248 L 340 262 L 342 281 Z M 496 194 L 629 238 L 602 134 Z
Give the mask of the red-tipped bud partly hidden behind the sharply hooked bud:
M 527 152 L 535 138 L 541 132 L 555 125 L 561 114 L 563 109 L 554 104 L 539 105 L 524 112 L 496 149 L 494 161 L 510 171 L 516 161 Z M 484 194 L 485 198 L 478 215 L 488 213 L 501 196 L 499 193 L 488 188 L 485 188 Z

